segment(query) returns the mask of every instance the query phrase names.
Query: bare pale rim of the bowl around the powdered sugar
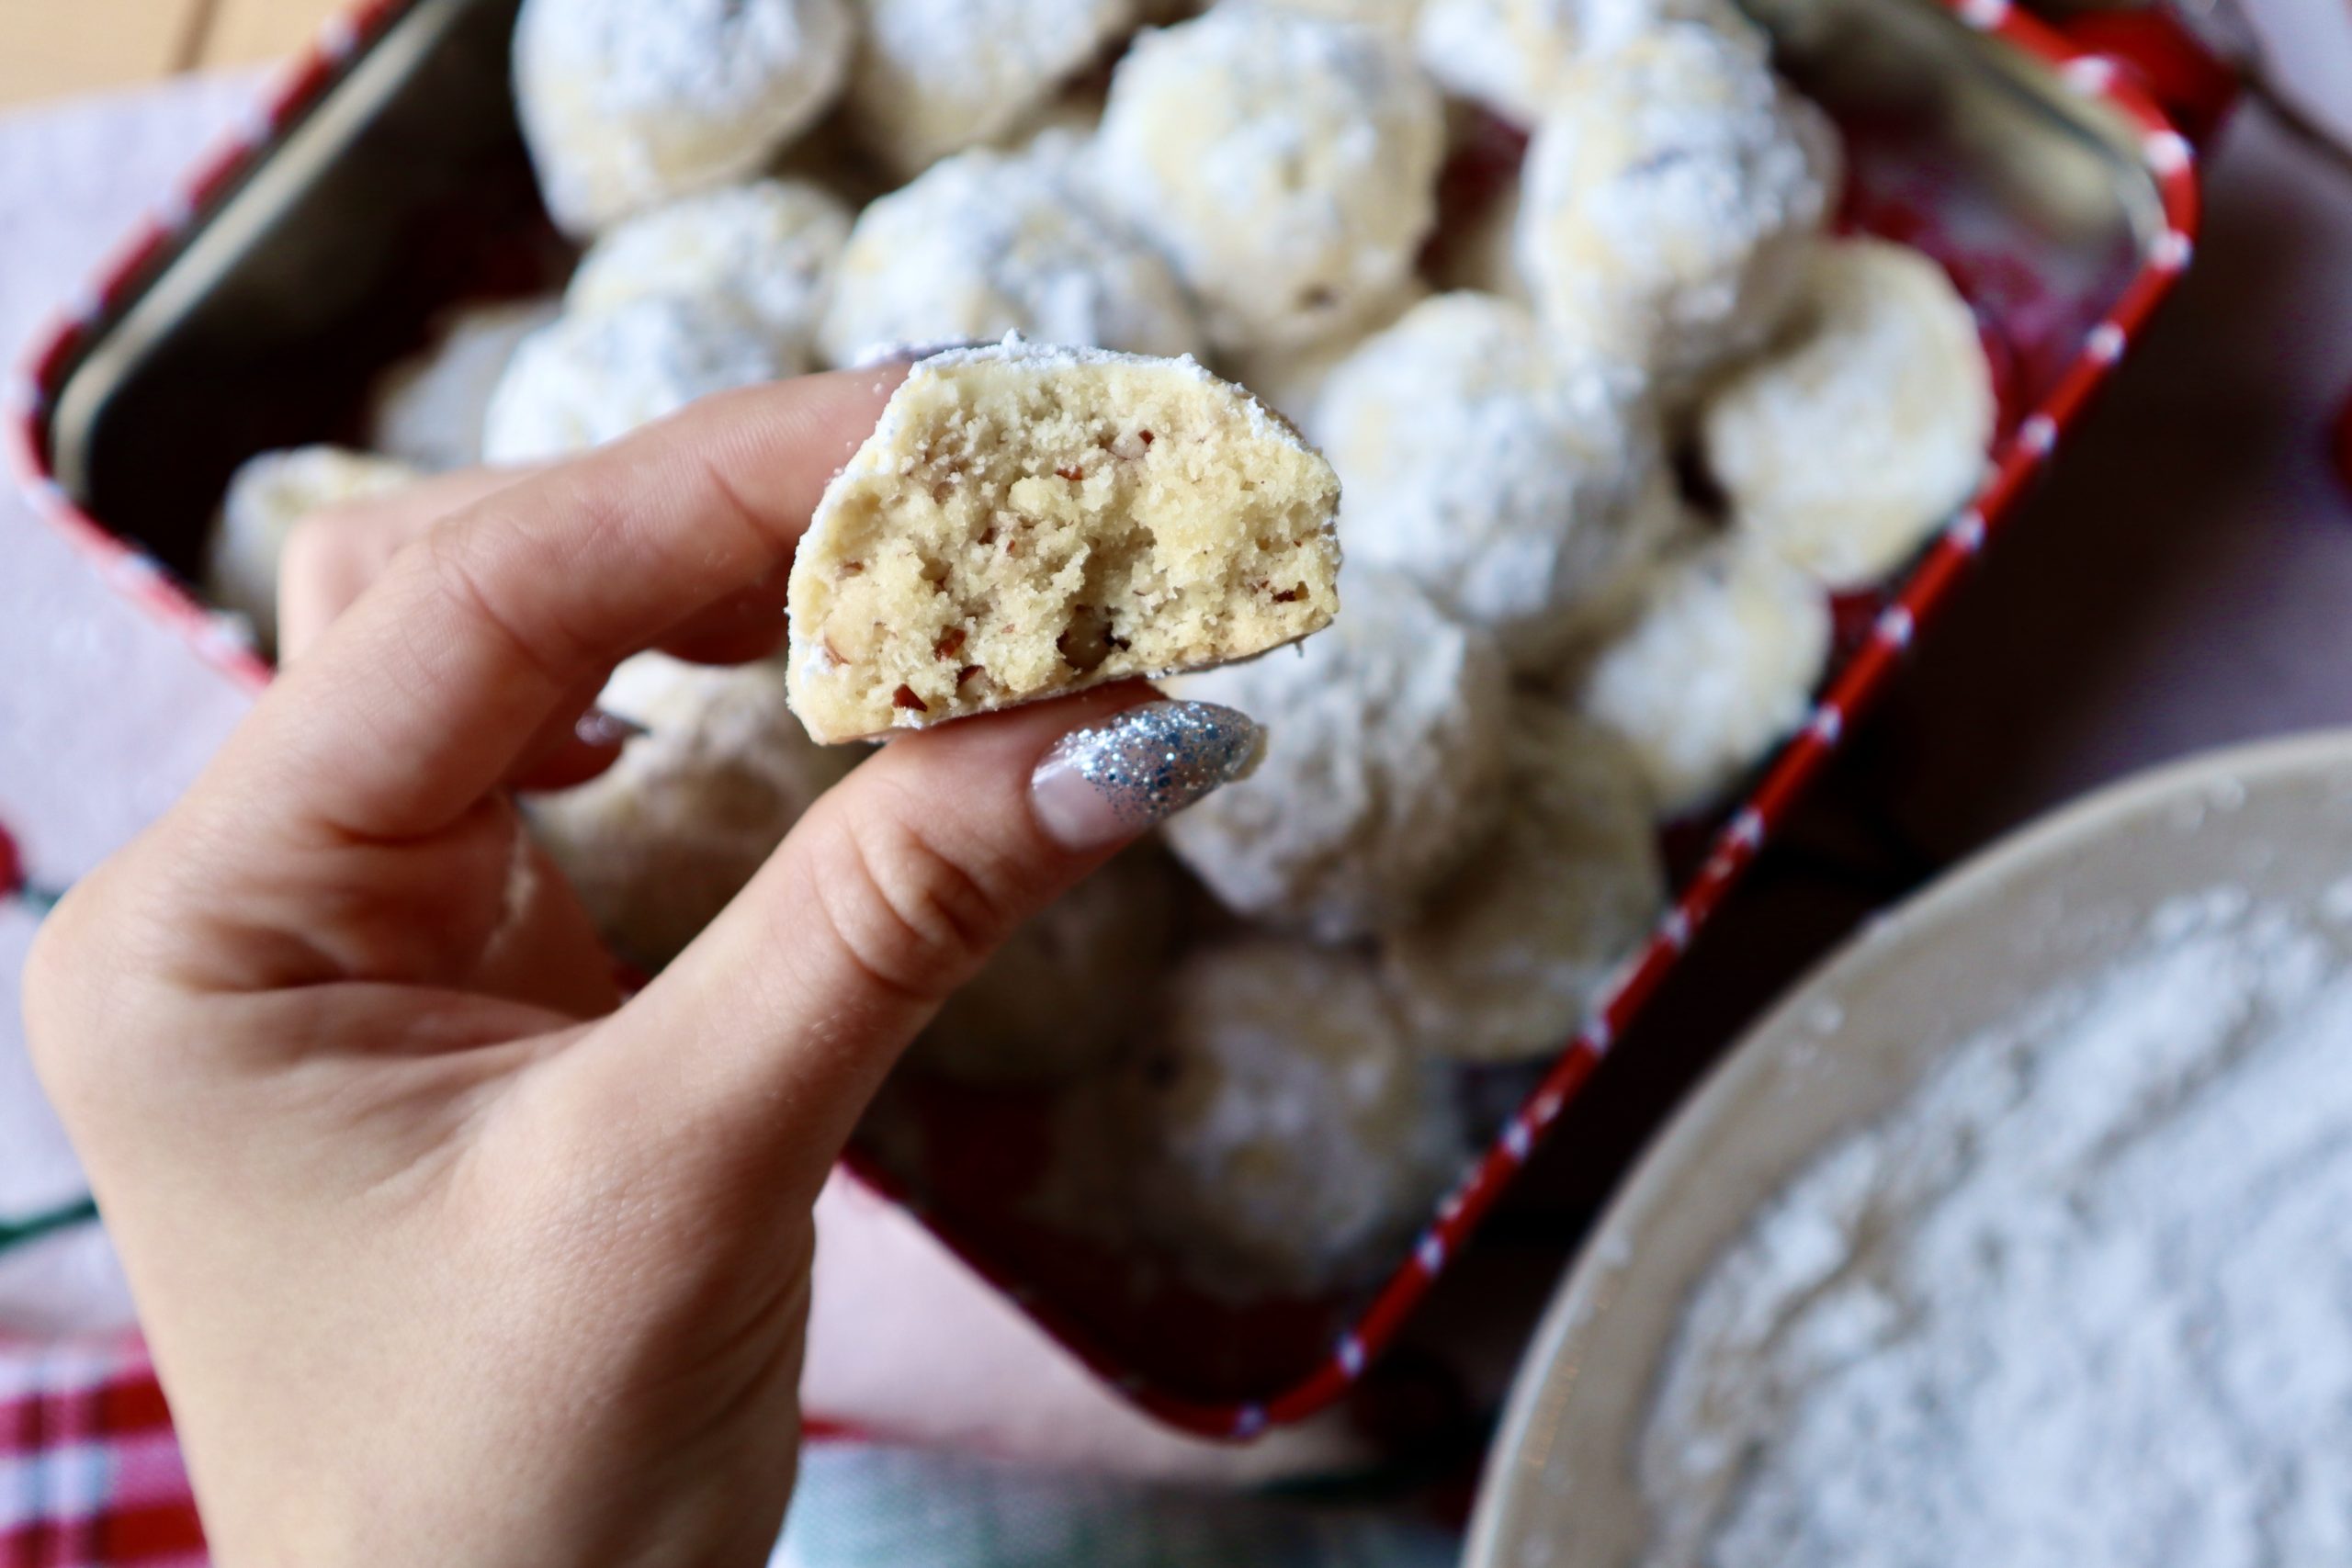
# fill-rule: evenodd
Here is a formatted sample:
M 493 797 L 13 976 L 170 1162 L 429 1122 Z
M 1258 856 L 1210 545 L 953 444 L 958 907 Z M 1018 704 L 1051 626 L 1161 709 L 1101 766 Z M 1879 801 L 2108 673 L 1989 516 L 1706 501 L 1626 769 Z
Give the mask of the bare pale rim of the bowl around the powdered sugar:
M 1465 1568 L 1613 1568 L 1684 1300 L 1757 1204 L 1959 1041 L 2140 940 L 2173 893 L 2321 907 L 2352 875 L 2352 733 L 2216 752 L 2027 827 L 1875 922 L 1748 1034 L 1635 1166 L 1519 1368 Z

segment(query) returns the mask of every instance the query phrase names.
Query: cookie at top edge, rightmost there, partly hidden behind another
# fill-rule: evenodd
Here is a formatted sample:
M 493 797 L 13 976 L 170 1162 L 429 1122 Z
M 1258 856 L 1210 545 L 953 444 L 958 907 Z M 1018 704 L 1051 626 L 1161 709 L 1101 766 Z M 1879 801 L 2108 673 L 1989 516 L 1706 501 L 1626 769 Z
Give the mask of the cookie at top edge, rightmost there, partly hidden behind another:
M 1414 26 L 1421 66 L 1446 92 L 1536 125 L 1583 56 L 1621 49 L 1663 21 L 1700 21 L 1766 54 L 1731 0 L 1425 0 Z

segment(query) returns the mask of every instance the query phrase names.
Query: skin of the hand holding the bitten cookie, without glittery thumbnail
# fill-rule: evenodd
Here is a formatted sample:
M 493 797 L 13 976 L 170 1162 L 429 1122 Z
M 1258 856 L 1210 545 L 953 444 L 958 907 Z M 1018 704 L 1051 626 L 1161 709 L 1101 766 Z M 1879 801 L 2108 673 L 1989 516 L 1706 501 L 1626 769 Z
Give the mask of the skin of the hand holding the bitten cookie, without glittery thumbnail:
M 816 1190 L 938 1001 L 1143 830 L 1037 780 L 1155 693 L 889 743 L 626 1004 L 510 790 L 616 755 L 579 719 L 623 656 L 776 646 L 894 381 L 306 527 L 282 675 L 45 924 L 35 1067 L 223 1568 L 767 1561 Z

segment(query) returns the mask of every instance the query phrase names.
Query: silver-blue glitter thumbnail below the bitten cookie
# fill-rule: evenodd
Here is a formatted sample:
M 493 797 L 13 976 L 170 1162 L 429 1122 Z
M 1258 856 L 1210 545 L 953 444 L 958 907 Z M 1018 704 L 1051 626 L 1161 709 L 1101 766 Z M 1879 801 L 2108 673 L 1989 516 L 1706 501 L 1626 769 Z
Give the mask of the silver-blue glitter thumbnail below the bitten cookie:
M 1049 839 L 1101 849 L 1249 778 L 1263 750 L 1265 731 L 1247 712 L 1145 703 L 1056 741 L 1030 773 L 1030 802 Z

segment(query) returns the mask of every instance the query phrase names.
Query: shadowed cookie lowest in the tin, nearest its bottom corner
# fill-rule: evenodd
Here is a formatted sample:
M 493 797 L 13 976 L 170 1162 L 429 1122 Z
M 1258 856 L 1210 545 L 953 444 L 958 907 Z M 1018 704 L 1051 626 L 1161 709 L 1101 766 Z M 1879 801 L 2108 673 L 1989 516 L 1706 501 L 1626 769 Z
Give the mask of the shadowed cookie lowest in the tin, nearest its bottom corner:
M 1296 940 L 1185 959 L 1122 1088 L 1136 1227 L 1223 1298 L 1378 1274 L 1465 1159 L 1371 964 Z

